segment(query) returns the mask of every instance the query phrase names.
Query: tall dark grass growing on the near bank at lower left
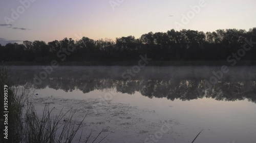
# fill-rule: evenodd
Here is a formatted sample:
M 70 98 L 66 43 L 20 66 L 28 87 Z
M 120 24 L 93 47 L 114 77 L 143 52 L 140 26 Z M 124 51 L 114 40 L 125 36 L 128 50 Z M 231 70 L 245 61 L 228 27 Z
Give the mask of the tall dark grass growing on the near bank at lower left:
M 8 85 L 8 139 L 1 137 L 0 142 L 71 143 L 81 141 L 82 131 L 77 140 L 74 138 L 77 137 L 78 130 L 83 127 L 86 116 L 77 124 L 73 119 L 75 112 L 72 109 L 63 112 L 62 108 L 57 115 L 54 115 L 53 109 L 50 109 L 48 104 L 45 105 L 42 115 L 38 116 L 31 101 L 32 90 L 27 87 L 18 88 L 17 84 L 10 81 L 8 70 L 3 66 L 0 69 L 0 101 L 2 103 L 0 105 L 0 119 L 4 116 L 4 85 Z M 68 118 L 63 120 L 67 116 Z M 3 122 L 2 119 L 1 136 L 4 133 L 2 129 L 5 127 Z M 93 142 L 101 133 L 102 131 L 94 138 Z M 91 133 L 86 142 L 90 137 Z

